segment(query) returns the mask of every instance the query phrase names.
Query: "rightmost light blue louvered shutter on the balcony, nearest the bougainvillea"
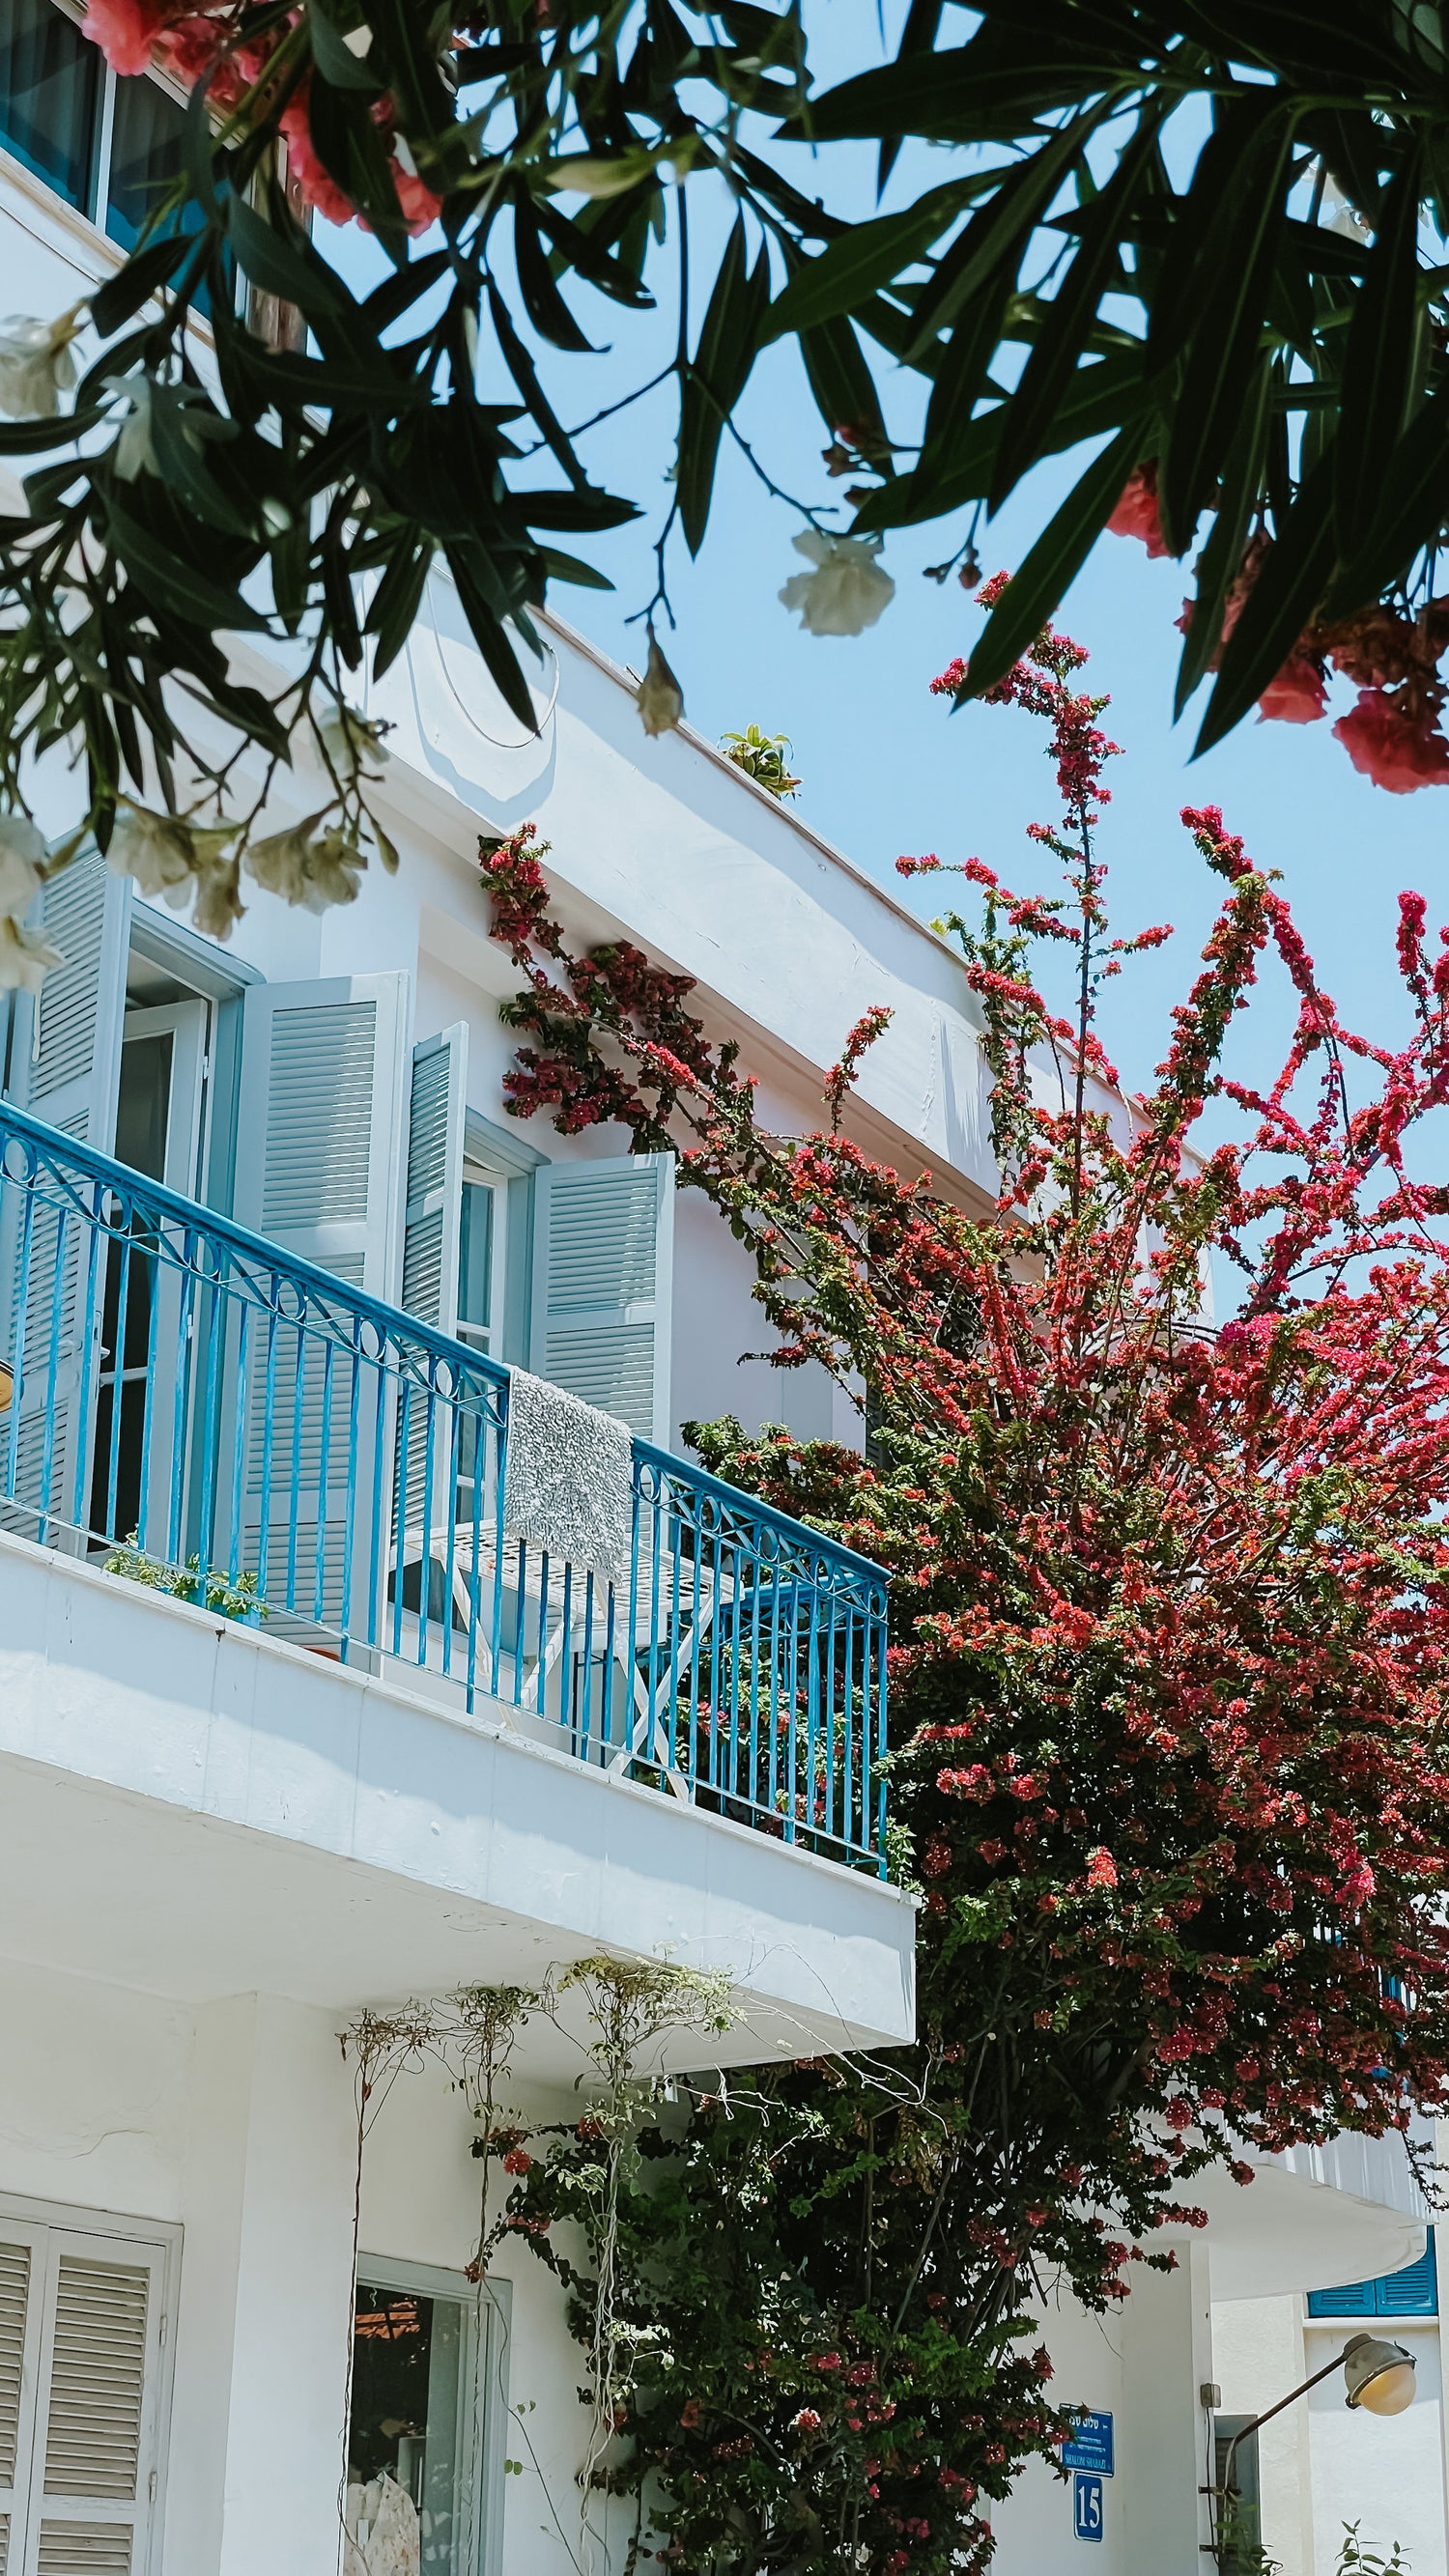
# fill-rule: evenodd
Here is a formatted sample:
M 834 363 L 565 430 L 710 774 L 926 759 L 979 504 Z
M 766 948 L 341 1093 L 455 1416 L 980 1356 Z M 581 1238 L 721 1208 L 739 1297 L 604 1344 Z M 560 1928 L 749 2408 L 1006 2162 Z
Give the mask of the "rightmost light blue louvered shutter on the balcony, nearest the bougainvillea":
M 673 1154 L 549 1162 L 534 1175 L 529 1368 L 670 1437 Z

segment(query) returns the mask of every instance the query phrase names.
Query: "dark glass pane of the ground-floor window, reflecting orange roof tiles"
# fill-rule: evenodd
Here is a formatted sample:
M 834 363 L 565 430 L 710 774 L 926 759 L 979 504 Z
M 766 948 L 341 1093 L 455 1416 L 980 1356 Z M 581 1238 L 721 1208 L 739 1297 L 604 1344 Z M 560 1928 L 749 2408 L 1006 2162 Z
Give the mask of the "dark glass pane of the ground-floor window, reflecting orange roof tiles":
M 387 2566 L 467 2576 L 462 2452 L 462 2300 L 358 2280 L 345 2527 L 364 2568 L 379 2545 Z

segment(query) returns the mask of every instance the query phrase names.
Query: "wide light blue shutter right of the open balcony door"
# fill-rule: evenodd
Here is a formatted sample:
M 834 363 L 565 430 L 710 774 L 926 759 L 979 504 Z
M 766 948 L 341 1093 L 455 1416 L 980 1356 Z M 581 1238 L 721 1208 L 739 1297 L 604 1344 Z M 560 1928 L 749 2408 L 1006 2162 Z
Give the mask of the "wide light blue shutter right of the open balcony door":
M 405 974 L 330 976 L 315 984 L 253 984 L 242 1002 L 242 1077 L 237 1118 L 237 1224 L 266 1234 L 284 1252 L 333 1270 L 351 1288 L 387 1298 L 394 1291 L 397 1188 L 402 1131 Z M 232 1381 L 237 1347 L 232 1329 Z M 297 1334 L 276 1332 L 271 1406 L 266 1345 L 253 1334 L 245 1396 L 242 1530 L 237 1564 L 263 1566 L 273 1610 L 322 1597 L 322 1625 L 343 1605 L 340 1522 L 348 1512 L 348 1373 L 325 1388 L 320 1342 L 304 1340 L 302 1383 Z M 338 1394 L 340 1388 L 340 1394 Z M 366 1396 L 371 1401 L 371 1381 Z M 229 1435 L 232 1406 L 224 1412 Z M 271 1489 L 263 1520 L 263 1432 L 271 1419 Z M 327 1437 L 327 1458 L 322 1458 Z M 374 1499 L 371 1422 L 353 1484 L 353 1548 L 366 1556 Z M 297 1461 L 297 1515 L 291 1510 Z M 358 1564 L 353 1564 L 353 1602 Z M 291 1605 L 286 1589 L 294 1592 Z M 284 1633 L 284 1631 L 276 1631 Z

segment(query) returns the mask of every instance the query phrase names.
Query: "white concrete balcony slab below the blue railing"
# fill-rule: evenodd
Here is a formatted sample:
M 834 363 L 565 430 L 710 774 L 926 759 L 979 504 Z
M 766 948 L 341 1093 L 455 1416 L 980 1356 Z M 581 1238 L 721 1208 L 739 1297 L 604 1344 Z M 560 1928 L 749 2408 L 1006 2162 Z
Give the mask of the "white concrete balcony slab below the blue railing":
M 10 1535 L 0 1814 L 0 1955 L 175 1999 L 345 2012 L 611 1950 L 732 1973 L 717 2063 L 913 2035 L 915 1904 L 877 1878 Z

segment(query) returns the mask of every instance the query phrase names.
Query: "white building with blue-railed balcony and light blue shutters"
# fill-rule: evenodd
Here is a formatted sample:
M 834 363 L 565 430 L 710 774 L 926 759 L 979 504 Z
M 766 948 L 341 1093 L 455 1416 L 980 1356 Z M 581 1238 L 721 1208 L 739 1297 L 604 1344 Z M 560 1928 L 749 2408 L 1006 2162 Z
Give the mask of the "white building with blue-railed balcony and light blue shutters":
M 113 265 L 175 124 L 70 8 L 10 0 L 18 312 Z M 253 894 L 217 945 L 80 858 L 44 896 L 64 966 L 3 1020 L 0 2576 L 335 2576 L 348 2512 L 371 2576 L 356 2494 L 389 2478 L 397 2566 L 578 2568 L 562 2298 L 526 2246 L 467 2277 L 443 2069 L 407 2063 L 358 2161 L 358 2014 L 608 1955 L 730 1981 L 730 2030 L 665 2030 L 647 2071 L 913 2038 L 884 1584 L 681 1458 L 691 1419 L 853 1440 L 853 1406 L 740 1365 L 750 1267 L 670 1157 L 508 1121 L 480 835 L 536 822 L 578 938 L 694 976 L 771 1126 L 815 1126 L 843 1033 L 892 1007 L 856 1133 L 967 1206 L 977 1028 L 887 891 L 709 744 L 647 742 L 629 677 L 547 631 L 529 737 L 433 585 L 364 706 L 394 878 L 322 917 Z M 34 786 L 59 837 L 77 786 Z M 627 1425 L 621 1556 L 518 1535 L 511 1365 Z M 578 2117 L 585 2040 L 578 1999 L 531 2017 L 523 2120 Z M 1106 2326 L 1044 2318 L 1111 2463 L 1024 2483 L 1003 2576 L 1207 2563 L 1214 2303 L 1423 2249 L 1408 2174 L 1346 2156 L 1227 2187 Z

